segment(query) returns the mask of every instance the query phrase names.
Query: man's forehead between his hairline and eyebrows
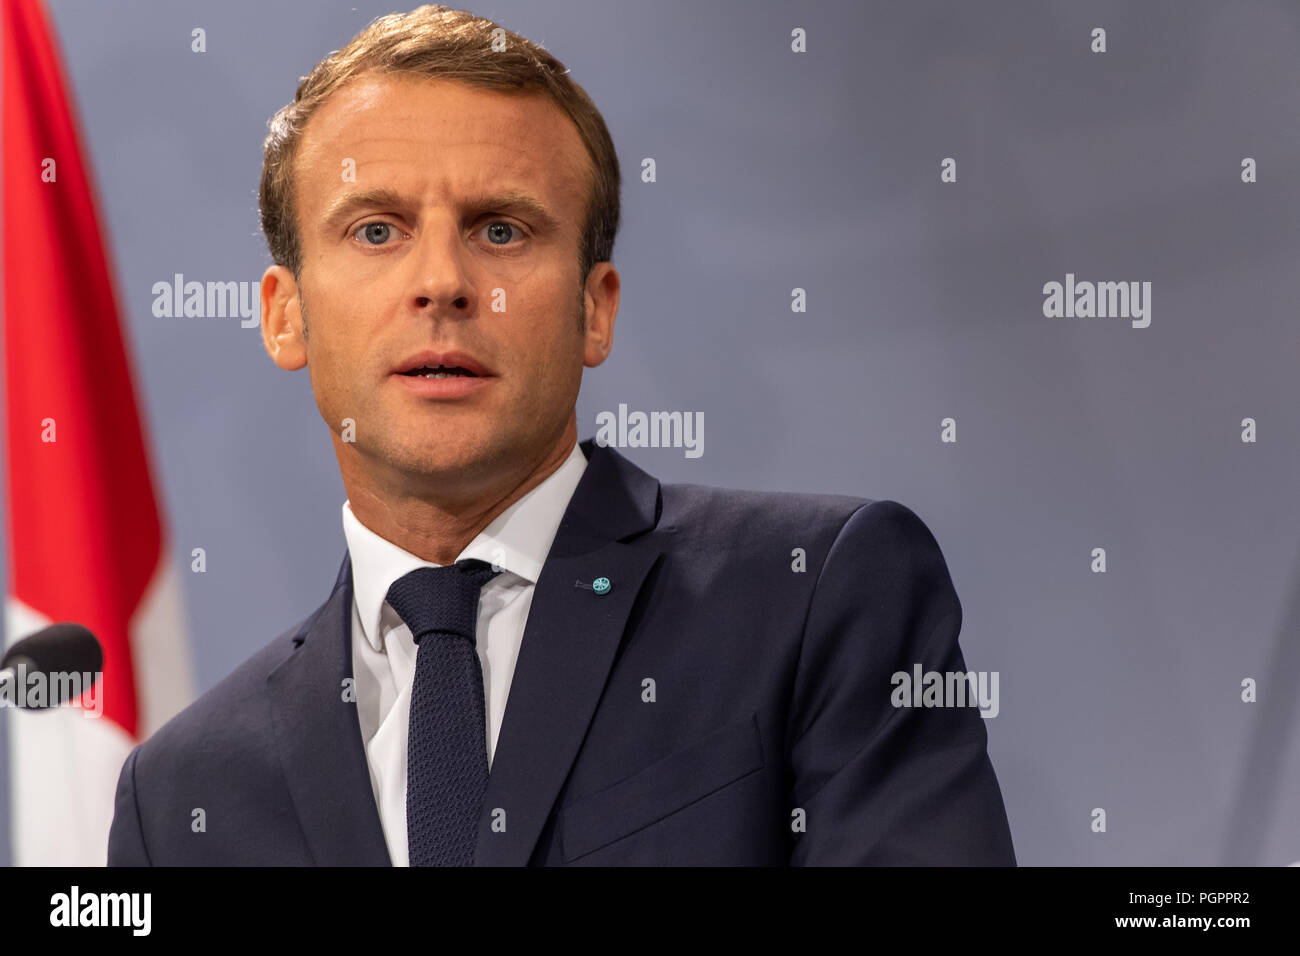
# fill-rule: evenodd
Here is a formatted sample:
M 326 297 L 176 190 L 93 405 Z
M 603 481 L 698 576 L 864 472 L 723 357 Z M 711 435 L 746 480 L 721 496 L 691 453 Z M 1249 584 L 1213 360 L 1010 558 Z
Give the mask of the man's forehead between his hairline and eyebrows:
M 342 176 L 347 160 L 355 182 Z M 438 202 L 516 189 L 576 222 L 590 159 L 573 122 L 542 94 L 368 73 L 311 117 L 294 168 L 304 217 L 358 186 L 389 186 Z

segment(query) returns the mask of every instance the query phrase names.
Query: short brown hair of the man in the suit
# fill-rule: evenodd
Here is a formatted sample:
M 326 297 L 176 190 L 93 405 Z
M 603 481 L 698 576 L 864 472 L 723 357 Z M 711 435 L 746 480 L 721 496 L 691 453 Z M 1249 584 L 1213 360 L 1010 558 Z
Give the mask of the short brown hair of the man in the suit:
M 500 31 L 499 34 L 497 31 Z M 504 49 L 495 49 L 504 42 Z M 302 241 L 294 202 L 294 157 L 303 129 L 325 100 L 363 73 L 404 73 L 456 79 L 512 94 L 549 96 L 577 126 L 592 159 L 592 191 L 578 250 L 578 272 L 611 261 L 619 232 L 619 157 L 601 112 L 568 69 L 541 47 L 468 10 L 425 5 L 380 17 L 302 78 L 294 101 L 266 124 L 259 206 L 261 230 L 277 265 L 298 278 Z

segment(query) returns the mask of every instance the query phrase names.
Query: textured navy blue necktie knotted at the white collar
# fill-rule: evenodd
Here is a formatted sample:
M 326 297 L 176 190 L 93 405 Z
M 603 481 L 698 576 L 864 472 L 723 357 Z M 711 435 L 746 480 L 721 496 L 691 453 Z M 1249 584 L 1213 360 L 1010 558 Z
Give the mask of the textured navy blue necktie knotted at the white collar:
M 387 602 L 416 643 L 407 732 L 411 866 L 471 866 L 488 790 L 488 721 L 476 650 L 478 593 L 499 571 L 484 561 L 421 567 Z

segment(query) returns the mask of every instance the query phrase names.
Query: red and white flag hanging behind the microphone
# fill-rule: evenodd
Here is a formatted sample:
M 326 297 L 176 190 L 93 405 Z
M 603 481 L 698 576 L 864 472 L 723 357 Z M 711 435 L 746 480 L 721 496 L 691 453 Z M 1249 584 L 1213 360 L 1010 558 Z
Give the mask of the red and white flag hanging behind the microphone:
M 42 0 L 0 8 L 5 640 L 72 620 L 104 646 L 98 718 L 0 711 L 13 862 L 103 865 L 126 754 L 194 684 L 70 87 Z

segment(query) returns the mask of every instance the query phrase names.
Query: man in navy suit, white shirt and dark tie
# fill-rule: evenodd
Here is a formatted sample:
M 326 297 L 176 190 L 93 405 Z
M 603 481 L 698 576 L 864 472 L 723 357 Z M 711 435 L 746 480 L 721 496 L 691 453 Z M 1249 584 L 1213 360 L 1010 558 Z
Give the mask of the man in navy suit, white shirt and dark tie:
M 385 17 L 270 124 L 261 287 L 347 489 L 333 592 L 138 747 L 109 861 L 1014 864 L 961 605 L 902 505 L 577 442 L 619 168 L 546 51 Z

